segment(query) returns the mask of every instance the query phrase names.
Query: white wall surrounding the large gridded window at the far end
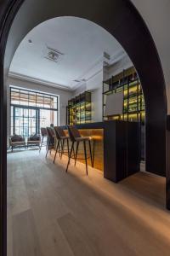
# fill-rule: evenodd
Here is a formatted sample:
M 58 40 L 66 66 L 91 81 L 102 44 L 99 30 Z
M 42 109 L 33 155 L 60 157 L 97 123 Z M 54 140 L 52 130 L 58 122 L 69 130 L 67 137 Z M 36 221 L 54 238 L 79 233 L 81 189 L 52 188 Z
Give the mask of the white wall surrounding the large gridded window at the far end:
M 19 86 L 28 90 L 39 90 L 42 92 L 52 93 L 55 95 L 59 95 L 59 125 L 65 125 L 66 121 L 66 106 L 68 104 L 68 100 L 71 98 L 71 91 L 68 90 L 60 90 L 58 88 L 54 88 L 52 86 L 46 86 L 42 84 L 37 84 L 33 82 L 28 82 L 22 79 L 14 79 L 9 78 L 7 80 L 7 137 L 10 135 L 10 90 L 9 85 Z M 7 143 L 8 143 L 7 138 Z

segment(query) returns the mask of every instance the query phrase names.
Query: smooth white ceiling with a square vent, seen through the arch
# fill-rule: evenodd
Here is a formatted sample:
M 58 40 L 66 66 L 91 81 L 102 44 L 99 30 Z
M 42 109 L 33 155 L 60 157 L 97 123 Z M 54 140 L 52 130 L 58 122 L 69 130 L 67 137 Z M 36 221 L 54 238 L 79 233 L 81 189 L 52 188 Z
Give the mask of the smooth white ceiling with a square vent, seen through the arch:
M 64 54 L 59 62 L 44 57 L 47 46 Z M 15 52 L 10 73 L 72 89 L 77 85 L 73 80 L 87 79 L 104 52 L 117 57 L 122 51 L 116 39 L 93 22 L 59 17 L 43 22 L 27 34 Z

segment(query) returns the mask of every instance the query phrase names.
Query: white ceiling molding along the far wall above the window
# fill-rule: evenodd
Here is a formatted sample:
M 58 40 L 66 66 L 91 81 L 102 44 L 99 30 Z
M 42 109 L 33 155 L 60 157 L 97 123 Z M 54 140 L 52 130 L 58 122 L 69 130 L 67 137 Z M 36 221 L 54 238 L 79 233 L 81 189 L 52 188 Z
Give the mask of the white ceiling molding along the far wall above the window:
M 42 80 L 42 79 L 32 78 L 30 76 L 26 76 L 26 75 L 23 75 L 23 74 L 20 74 L 20 73 L 9 72 L 8 77 L 12 78 L 12 79 L 22 79 L 22 80 L 25 80 L 27 82 L 41 84 L 41 85 L 45 85 L 45 86 L 50 86 L 50 87 L 54 87 L 54 88 L 60 89 L 60 90 L 72 91 L 71 87 L 69 87 L 67 85 L 54 84 L 52 82 L 48 82 L 48 81 L 45 81 L 45 80 Z

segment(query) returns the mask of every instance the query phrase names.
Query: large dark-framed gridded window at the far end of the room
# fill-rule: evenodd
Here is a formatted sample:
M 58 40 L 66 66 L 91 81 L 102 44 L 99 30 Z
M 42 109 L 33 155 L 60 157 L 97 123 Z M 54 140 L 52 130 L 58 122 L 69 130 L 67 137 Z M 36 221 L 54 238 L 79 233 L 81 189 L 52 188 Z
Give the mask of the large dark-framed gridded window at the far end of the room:
M 41 127 L 59 125 L 59 96 L 10 87 L 10 134 L 30 137 Z

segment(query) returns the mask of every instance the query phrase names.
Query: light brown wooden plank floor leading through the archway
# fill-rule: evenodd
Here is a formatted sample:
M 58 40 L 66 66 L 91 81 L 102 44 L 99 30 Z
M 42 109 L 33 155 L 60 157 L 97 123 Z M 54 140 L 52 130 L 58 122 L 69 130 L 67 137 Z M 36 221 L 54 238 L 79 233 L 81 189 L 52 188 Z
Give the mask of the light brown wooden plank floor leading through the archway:
M 8 256 L 169 256 L 165 179 L 102 172 L 37 150 L 8 154 Z

